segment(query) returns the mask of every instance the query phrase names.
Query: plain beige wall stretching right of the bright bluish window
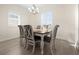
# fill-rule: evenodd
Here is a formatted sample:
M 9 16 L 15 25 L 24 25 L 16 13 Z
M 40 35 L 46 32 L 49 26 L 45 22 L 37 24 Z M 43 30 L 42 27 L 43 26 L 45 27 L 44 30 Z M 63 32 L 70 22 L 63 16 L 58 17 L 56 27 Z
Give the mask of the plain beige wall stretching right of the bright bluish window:
M 54 24 L 59 24 L 58 37 L 75 43 L 75 6 L 59 5 Z

